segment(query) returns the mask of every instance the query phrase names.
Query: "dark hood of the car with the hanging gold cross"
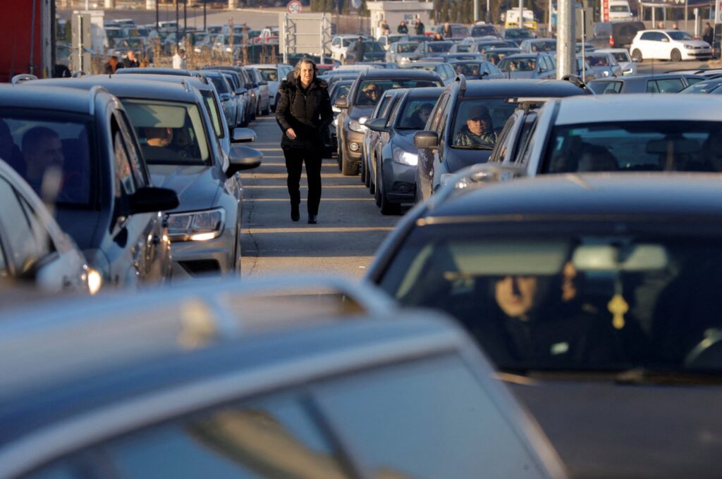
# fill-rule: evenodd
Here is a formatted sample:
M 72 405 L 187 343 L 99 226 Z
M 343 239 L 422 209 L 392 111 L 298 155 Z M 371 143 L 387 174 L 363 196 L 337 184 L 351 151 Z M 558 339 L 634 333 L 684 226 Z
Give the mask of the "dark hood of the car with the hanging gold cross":
M 510 384 L 573 478 L 719 476 L 719 385 Z

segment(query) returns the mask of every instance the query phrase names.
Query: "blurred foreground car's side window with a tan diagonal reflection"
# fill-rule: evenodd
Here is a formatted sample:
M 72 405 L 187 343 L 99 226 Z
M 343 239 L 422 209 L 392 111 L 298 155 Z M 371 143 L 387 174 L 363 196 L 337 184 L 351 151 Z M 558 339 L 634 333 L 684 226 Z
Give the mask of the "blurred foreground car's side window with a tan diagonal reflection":
M 178 418 L 89 452 L 118 478 L 351 477 L 341 454 L 291 393 Z

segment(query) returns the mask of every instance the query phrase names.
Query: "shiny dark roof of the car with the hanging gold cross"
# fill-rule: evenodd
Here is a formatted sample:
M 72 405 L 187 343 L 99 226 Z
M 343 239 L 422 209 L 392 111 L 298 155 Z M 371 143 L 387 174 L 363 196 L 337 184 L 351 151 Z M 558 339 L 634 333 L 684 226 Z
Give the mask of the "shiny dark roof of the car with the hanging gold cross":
M 624 95 L 620 95 L 624 96 Z M 631 108 L 630 108 L 631 110 Z M 485 183 L 447 198 L 423 219 L 445 221 L 521 221 L 523 215 L 565 221 L 593 221 L 618 215 L 639 220 L 659 216 L 722 220 L 722 175 L 680 172 L 623 172 L 539 175 Z M 576 218 L 576 219 L 575 219 Z

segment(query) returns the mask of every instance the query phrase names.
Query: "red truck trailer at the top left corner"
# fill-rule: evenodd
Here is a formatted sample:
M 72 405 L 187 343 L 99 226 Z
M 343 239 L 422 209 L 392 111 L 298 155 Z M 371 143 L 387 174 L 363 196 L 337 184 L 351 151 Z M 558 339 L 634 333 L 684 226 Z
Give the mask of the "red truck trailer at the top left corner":
M 30 73 L 53 73 L 55 0 L 2 2 L 0 15 L 0 82 Z

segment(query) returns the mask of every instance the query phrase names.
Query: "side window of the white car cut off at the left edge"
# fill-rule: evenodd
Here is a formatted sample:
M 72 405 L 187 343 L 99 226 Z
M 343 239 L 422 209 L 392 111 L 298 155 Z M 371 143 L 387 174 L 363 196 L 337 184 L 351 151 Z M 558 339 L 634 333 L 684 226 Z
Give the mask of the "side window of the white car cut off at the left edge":
M 17 271 L 24 273 L 43 256 L 43 246 L 38 243 L 38 232 L 33 232 L 19 195 L 4 178 L 0 178 L 0 204 L 3 206 L 0 224 L 12 255 L 9 260 Z

